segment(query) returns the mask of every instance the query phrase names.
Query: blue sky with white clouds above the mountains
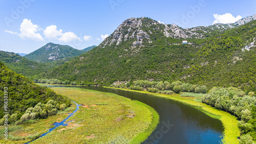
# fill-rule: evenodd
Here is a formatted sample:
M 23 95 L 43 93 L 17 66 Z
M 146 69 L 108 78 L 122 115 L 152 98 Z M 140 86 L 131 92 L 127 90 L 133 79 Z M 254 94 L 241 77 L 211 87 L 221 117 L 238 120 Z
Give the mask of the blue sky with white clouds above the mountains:
M 255 8 L 255 0 L 0 0 L 0 51 L 29 54 L 48 42 L 82 50 L 131 17 L 191 28 L 235 22 Z

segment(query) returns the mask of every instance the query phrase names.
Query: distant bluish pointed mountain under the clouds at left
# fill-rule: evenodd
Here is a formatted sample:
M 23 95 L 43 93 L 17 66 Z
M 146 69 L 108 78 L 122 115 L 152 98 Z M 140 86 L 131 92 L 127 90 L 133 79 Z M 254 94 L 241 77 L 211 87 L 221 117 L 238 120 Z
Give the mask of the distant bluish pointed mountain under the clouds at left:
M 50 42 L 24 57 L 32 61 L 48 63 L 58 60 L 69 61 L 83 53 L 85 52 L 74 49 L 69 45 L 60 45 Z

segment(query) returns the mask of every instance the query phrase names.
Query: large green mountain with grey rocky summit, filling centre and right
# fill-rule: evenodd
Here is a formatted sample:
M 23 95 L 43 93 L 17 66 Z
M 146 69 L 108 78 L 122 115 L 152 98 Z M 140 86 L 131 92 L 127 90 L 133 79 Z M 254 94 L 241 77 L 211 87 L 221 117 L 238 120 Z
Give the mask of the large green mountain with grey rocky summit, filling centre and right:
M 188 44 L 181 44 L 183 40 Z M 99 46 L 44 76 L 103 85 L 180 80 L 209 88 L 256 91 L 255 41 L 255 20 L 220 30 L 212 26 L 182 29 L 146 17 L 130 18 Z

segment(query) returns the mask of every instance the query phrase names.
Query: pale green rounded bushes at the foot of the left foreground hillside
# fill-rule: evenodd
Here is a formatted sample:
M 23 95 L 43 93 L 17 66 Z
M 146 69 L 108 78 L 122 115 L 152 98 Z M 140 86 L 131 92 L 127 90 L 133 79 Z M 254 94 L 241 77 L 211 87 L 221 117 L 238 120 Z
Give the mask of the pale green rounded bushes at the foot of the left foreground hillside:
M 18 120 L 17 113 L 12 115 L 8 114 L 8 124 L 15 123 L 16 125 L 22 124 L 23 122 L 32 120 L 32 119 L 40 119 L 47 118 L 51 115 L 56 115 L 58 111 L 63 111 L 66 109 L 66 104 L 59 104 L 57 101 L 50 100 L 47 104 L 38 103 L 34 107 L 30 107 L 26 110 L 26 112 L 20 117 Z M 17 121 L 18 120 L 18 121 Z M 4 116 L 0 120 L 0 125 L 4 125 L 6 121 L 6 117 Z

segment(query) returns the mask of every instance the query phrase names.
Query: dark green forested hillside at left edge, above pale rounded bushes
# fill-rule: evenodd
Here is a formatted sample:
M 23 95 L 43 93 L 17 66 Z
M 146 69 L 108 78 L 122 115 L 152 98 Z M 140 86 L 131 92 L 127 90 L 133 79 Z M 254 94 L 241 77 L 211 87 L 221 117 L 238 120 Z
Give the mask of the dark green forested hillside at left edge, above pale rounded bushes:
M 4 100 L 4 94 L 8 94 L 7 100 Z M 0 62 L 0 95 L 2 95 L 0 97 L 1 106 L 8 102 L 7 111 L 4 107 L 0 109 L 0 118 L 3 117 L 4 112 L 9 112 L 10 115 L 16 114 L 16 118 L 19 119 L 28 108 L 34 107 L 38 103 L 46 104 L 50 100 L 66 106 L 71 104 L 70 100 L 56 94 L 50 88 L 40 87 L 26 77 L 16 74 L 2 62 Z

